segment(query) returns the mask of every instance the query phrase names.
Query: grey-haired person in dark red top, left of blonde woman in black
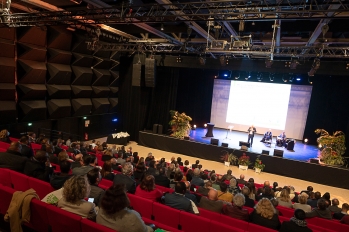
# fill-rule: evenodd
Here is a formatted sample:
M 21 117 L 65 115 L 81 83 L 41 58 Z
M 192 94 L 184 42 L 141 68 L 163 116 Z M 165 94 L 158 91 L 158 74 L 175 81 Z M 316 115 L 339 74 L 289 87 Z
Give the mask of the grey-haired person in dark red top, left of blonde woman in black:
M 234 196 L 234 204 L 226 204 L 223 206 L 223 214 L 228 215 L 232 218 L 236 218 L 243 221 L 249 221 L 249 213 L 247 209 L 242 207 L 245 205 L 245 197 L 241 193 Z

